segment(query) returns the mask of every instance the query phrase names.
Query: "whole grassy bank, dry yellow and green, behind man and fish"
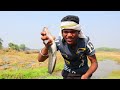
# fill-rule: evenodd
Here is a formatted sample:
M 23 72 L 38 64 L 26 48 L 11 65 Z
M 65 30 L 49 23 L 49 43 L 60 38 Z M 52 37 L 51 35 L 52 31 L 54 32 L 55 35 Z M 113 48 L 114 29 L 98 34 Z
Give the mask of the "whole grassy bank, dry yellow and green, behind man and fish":
M 96 51 L 97 60 L 115 60 L 120 63 L 120 52 Z M 0 79 L 61 79 L 57 72 L 63 69 L 63 58 L 57 53 L 57 63 L 52 75 L 48 73 L 48 60 L 38 62 L 38 53 L 0 51 Z M 119 74 L 119 73 L 118 73 Z M 119 74 L 120 75 L 120 74 Z M 117 76 L 116 76 L 117 77 Z

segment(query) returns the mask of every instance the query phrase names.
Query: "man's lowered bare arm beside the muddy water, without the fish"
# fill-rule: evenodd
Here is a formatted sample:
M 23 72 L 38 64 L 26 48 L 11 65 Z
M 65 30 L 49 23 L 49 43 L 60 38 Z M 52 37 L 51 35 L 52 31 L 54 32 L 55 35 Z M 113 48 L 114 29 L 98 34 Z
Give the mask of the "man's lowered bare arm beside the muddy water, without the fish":
M 87 79 L 92 73 L 94 73 L 96 71 L 96 69 L 98 68 L 98 63 L 97 63 L 97 59 L 96 59 L 96 55 L 92 55 L 92 56 L 88 56 L 88 59 L 91 62 L 90 68 L 88 69 L 88 71 L 81 77 L 81 79 Z

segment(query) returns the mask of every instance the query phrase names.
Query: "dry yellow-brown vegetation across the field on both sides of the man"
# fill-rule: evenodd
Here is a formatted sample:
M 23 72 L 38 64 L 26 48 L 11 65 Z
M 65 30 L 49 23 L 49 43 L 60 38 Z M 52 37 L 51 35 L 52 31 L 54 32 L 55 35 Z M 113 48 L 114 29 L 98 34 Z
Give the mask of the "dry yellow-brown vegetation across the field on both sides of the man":
M 47 60 L 45 62 L 38 62 L 38 53 L 38 51 L 32 50 L 25 52 L 0 50 L 0 70 L 47 66 Z M 110 59 L 120 63 L 120 52 L 98 51 L 96 56 L 98 61 Z M 63 58 L 59 52 L 57 53 L 57 63 L 63 63 Z

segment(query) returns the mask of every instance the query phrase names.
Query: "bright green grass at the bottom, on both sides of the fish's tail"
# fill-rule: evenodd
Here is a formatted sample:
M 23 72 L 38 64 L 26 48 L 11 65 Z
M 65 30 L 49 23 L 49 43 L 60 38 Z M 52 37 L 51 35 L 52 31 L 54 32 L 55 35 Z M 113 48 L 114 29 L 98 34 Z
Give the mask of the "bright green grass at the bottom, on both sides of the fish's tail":
M 61 64 L 61 63 L 56 65 L 55 72 L 61 71 L 63 68 L 62 65 L 63 64 Z M 20 68 L 18 70 L 7 70 L 6 69 L 0 73 L 0 79 L 32 79 L 32 78 L 40 78 L 40 77 L 44 77 L 46 79 L 61 78 L 60 76 L 50 75 L 48 73 L 47 67 L 39 67 L 39 68 L 34 68 L 34 69 Z

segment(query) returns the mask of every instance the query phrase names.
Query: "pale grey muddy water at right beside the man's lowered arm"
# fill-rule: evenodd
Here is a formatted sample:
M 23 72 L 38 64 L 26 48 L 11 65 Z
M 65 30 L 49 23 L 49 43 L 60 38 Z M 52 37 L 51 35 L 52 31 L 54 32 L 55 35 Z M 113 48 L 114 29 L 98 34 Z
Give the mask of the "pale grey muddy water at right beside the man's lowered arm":
M 120 64 L 112 60 L 100 61 L 91 79 L 106 78 L 113 70 L 120 70 Z

